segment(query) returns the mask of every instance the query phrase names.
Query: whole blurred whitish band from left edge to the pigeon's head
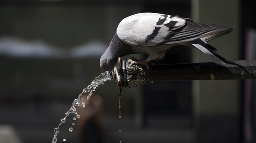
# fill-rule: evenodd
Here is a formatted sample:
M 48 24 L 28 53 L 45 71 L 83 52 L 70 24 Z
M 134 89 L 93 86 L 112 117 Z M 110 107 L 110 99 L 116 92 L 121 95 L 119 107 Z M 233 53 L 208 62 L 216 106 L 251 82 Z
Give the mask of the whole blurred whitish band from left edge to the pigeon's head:
M 0 55 L 11 57 L 99 57 L 106 50 L 106 45 L 102 42 L 88 42 L 69 50 L 56 48 L 42 41 L 25 41 L 19 38 L 2 37 L 0 38 Z

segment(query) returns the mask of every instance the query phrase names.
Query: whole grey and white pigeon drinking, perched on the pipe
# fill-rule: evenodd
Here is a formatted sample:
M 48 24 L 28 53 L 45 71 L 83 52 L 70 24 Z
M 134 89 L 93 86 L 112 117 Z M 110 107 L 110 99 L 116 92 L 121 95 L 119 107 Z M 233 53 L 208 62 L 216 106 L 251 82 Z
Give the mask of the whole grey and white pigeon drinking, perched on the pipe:
M 146 59 L 133 58 L 133 63 L 145 65 L 165 57 L 168 49 L 193 47 L 214 57 L 222 63 L 227 59 L 206 41 L 225 35 L 233 29 L 228 26 L 193 22 L 189 18 L 158 13 L 139 13 L 124 18 L 110 45 L 100 58 L 102 70 L 112 70 L 118 57 L 130 54 L 147 54 Z M 150 65 L 150 66 L 151 66 Z

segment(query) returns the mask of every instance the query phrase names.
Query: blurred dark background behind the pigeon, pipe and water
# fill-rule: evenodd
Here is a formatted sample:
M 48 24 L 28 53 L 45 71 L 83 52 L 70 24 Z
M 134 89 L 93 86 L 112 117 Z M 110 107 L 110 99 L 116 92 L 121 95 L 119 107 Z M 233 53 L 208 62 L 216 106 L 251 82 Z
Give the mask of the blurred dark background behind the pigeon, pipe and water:
M 228 25 L 234 31 L 209 43 L 230 61 L 256 59 L 255 5 L 253 0 L 1 0 L 0 143 L 51 142 L 73 99 L 102 73 L 99 58 L 124 17 L 157 12 Z M 169 50 L 160 63 L 208 61 L 215 59 L 184 48 Z M 255 80 L 125 88 L 119 119 L 117 85 L 107 81 L 85 101 L 87 108 L 77 109 L 80 119 L 68 117 L 58 142 L 256 143 L 255 89 Z

